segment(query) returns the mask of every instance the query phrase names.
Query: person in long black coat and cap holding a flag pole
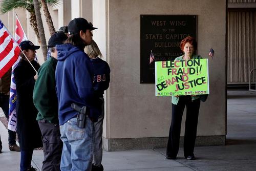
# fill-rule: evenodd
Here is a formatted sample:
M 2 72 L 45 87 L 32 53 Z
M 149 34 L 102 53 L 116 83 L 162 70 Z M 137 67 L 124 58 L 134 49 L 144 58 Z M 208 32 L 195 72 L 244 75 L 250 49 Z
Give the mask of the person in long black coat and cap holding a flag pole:
M 22 53 L 14 69 L 17 90 L 17 133 L 20 145 L 20 171 L 35 170 L 31 166 L 33 149 L 42 146 L 41 132 L 36 121 L 38 111 L 33 103 L 33 90 L 39 64 L 34 60 L 39 46 L 25 40 L 19 44 Z

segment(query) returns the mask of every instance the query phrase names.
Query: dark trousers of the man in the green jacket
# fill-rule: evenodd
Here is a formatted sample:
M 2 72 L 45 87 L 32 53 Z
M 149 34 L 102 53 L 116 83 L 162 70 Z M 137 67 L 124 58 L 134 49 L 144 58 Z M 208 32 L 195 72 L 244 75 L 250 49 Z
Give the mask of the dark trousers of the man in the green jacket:
M 42 162 L 42 170 L 60 170 L 60 159 L 63 143 L 60 139 L 59 125 L 49 123 L 42 119 L 38 121 L 42 134 L 45 159 Z

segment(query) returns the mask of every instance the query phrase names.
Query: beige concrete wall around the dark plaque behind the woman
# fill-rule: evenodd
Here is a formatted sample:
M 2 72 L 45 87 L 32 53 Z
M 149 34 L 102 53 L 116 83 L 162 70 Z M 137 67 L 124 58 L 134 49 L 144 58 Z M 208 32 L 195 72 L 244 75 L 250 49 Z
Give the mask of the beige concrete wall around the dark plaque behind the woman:
M 93 6 L 97 7 L 93 8 L 94 24 L 101 24 L 101 27 L 95 25 L 99 29 L 95 31 L 94 39 L 100 35 L 98 44 L 102 49 L 106 47 L 106 60 L 111 67 L 111 84 L 106 92 L 104 148 L 116 150 L 118 147 L 113 144 L 118 142 L 124 143 L 123 149 L 129 146 L 129 140 L 136 142 L 145 138 L 143 143 L 151 143 L 152 138 L 168 136 L 170 97 L 155 97 L 154 84 L 140 84 L 141 14 L 198 15 L 198 54 L 207 58 L 210 48 L 216 52 L 214 59 L 209 59 L 210 95 L 205 103 L 201 103 L 198 136 L 206 136 L 207 139 L 219 136 L 221 139 L 217 144 L 224 144 L 226 1 L 106 0 L 105 3 L 104 6 L 102 1 L 93 1 Z M 95 17 L 103 11 L 105 26 L 104 15 Z M 184 118 L 185 115 L 182 135 Z M 207 144 L 216 144 L 210 142 L 215 138 Z M 166 138 L 163 140 L 166 142 Z

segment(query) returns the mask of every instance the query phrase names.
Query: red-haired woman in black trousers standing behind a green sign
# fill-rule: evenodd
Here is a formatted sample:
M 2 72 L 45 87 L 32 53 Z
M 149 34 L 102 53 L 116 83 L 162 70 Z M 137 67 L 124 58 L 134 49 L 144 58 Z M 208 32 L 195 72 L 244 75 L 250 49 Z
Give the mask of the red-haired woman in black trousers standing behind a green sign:
M 201 59 L 195 54 L 197 42 L 195 38 L 187 36 L 180 43 L 184 55 L 175 60 Z M 194 147 L 197 137 L 197 123 L 200 108 L 198 95 L 172 96 L 172 123 L 170 124 L 167 144 L 166 159 L 176 159 L 179 152 L 180 130 L 183 111 L 186 106 L 186 123 L 184 136 L 184 157 L 187 160 L 195 160 Z

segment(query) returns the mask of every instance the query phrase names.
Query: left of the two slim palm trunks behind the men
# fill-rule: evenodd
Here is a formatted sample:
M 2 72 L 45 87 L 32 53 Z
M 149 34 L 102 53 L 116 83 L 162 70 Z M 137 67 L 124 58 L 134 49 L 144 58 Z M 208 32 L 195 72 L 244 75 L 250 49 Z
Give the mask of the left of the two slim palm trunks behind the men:
M 38 26 L 39 36 L 41 39 L 42 55 L 44 55 L 44 60 L 46 61 L 47 45 L 46 45 L 45 30 L 44 30 L 44 26 L 42 25 L 40 6 L 39 6 L 38 0 L 33 0 L 33 3 L 34 3 L 34 8 L 35 8 L 35 16 L 36 16 L 36 22 L 37 22 L 37 26 Z

